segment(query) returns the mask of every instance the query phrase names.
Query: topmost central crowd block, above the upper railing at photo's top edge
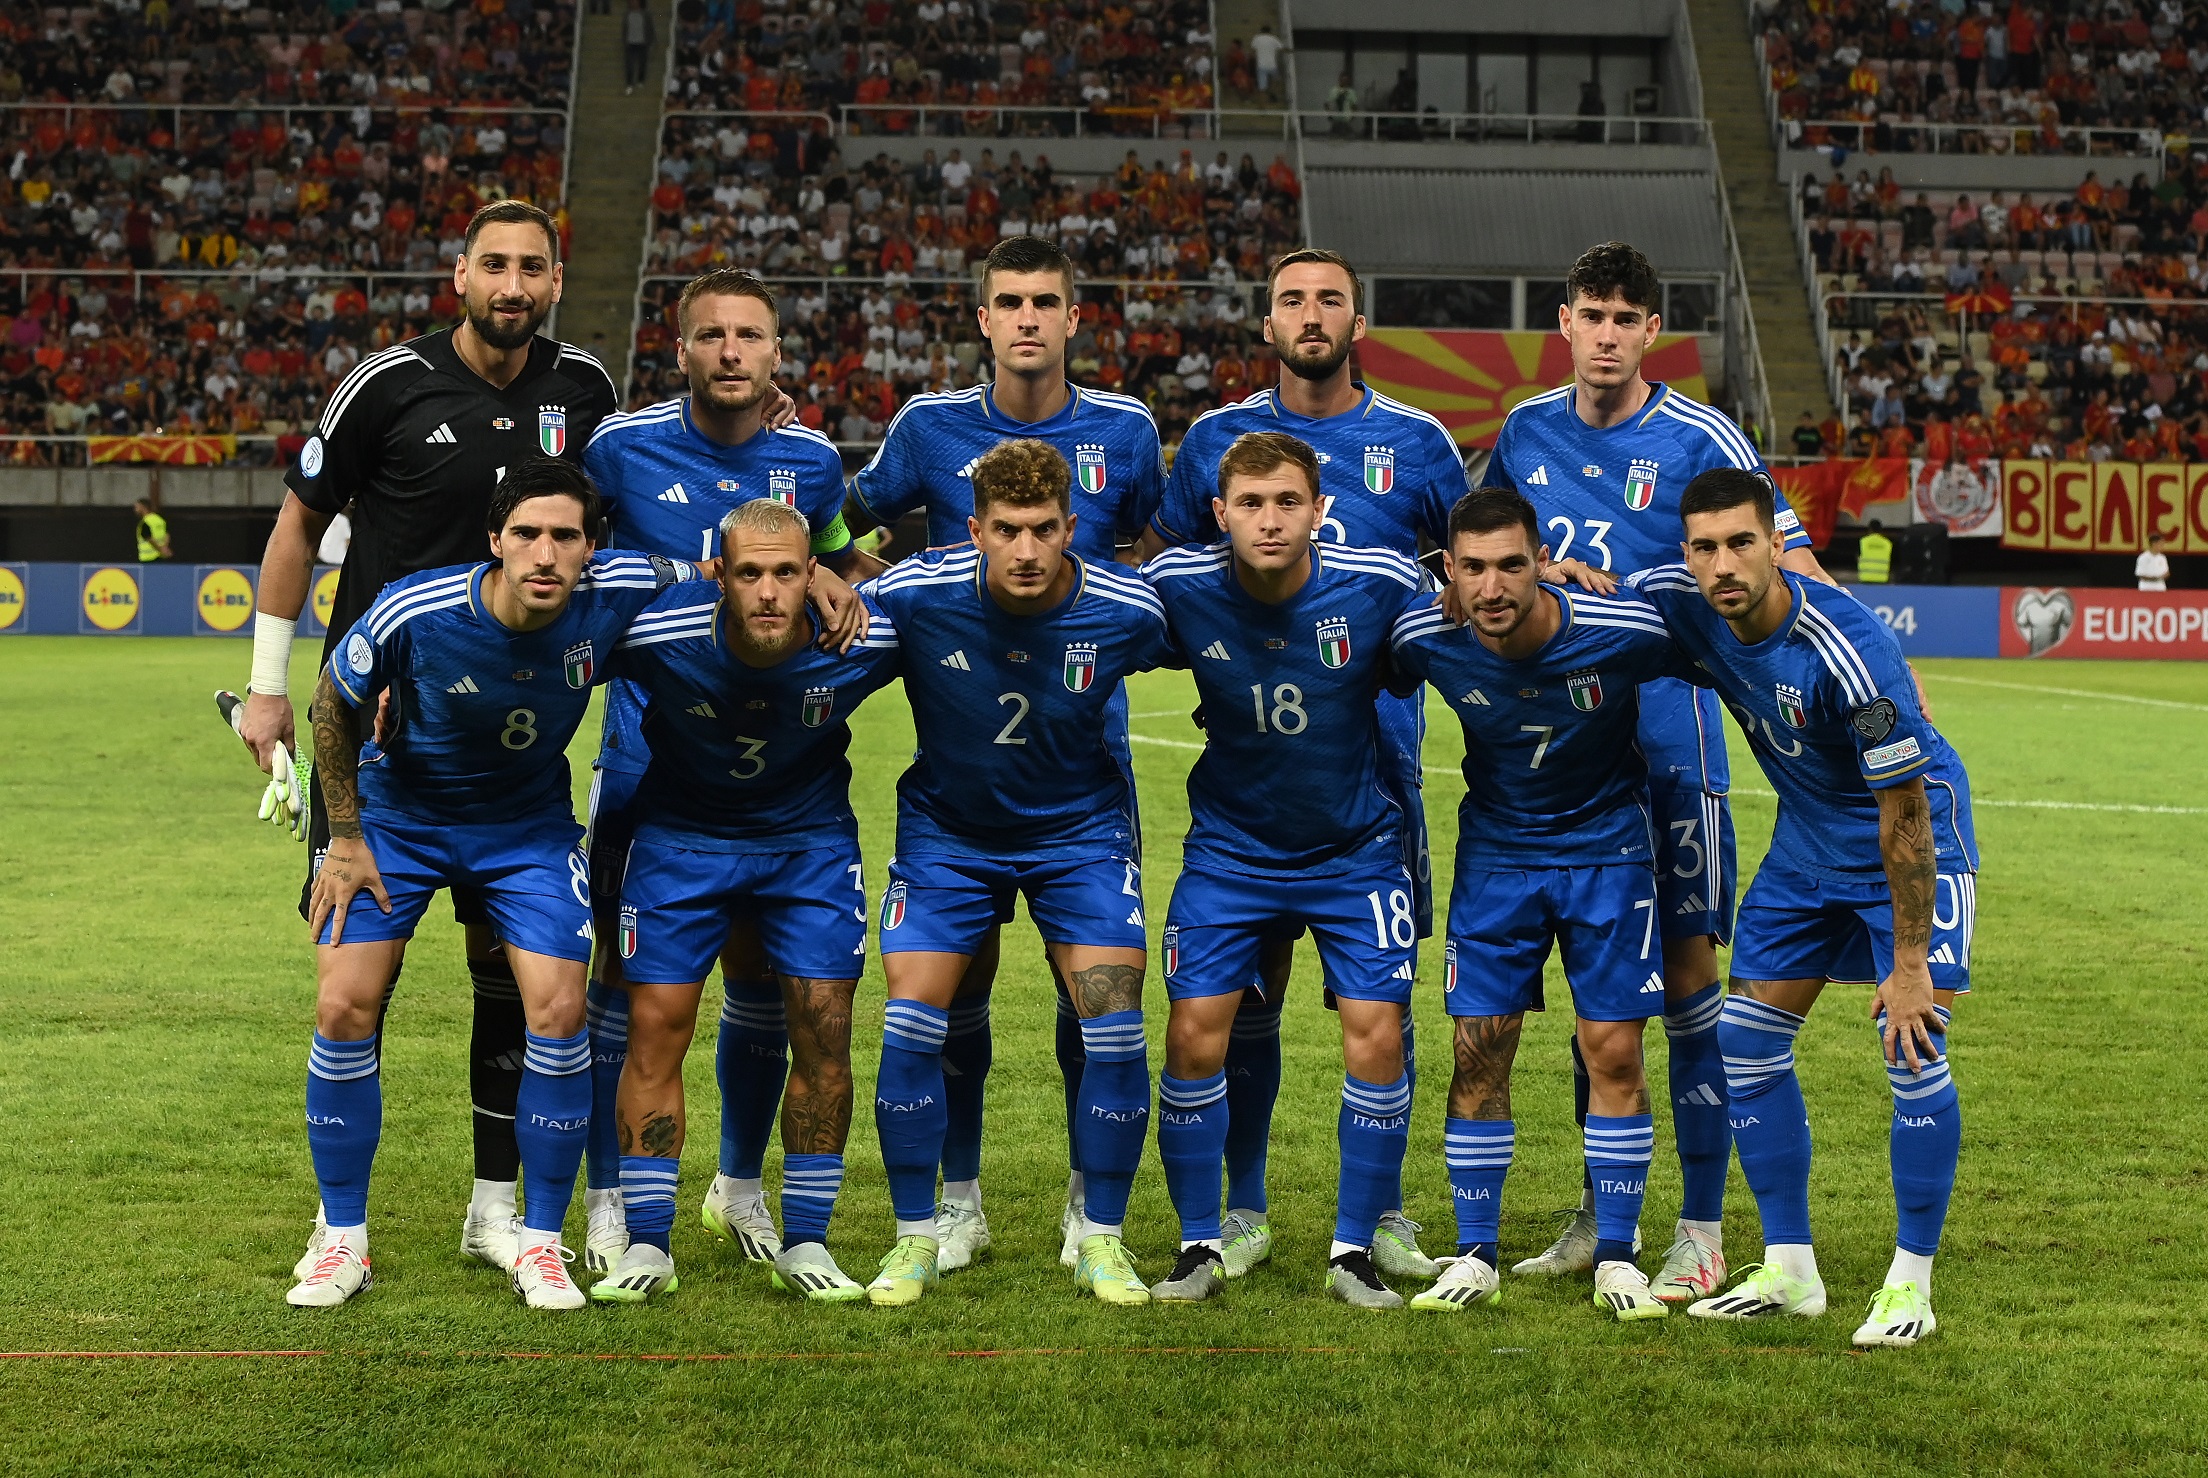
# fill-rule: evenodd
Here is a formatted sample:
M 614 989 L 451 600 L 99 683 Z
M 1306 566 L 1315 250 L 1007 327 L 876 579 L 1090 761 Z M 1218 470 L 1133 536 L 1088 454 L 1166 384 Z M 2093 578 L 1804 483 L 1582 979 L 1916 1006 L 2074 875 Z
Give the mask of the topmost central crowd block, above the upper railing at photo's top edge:
M 839 119 L 852 104 L 854 133 L 1203 137 L 1188 115 L 1212 106 L 1210 4 L 680 0 L 667 102 Z

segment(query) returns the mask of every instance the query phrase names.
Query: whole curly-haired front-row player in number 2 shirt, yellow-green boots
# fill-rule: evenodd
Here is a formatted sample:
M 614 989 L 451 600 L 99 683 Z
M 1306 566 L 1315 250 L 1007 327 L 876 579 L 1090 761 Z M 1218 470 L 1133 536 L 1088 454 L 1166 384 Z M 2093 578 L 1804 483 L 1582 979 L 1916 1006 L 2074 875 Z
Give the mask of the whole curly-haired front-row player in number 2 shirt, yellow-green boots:
M 1071 471 L 1047 442 L 974 464 L 972 548 L 907 559 L 861 594 L 896 627 L 919 751 L 896 782 L 896 855 L 881 897 L 890 1005 L 874 1127 L 896 1246 L 868 1288 L 914 1303 L 938 1275 L 952 996 L 976 950 L 1027 895 L 1080 1014 L 1075 1087 L 1082 1220 L 1075 1281 L 1148 1303 L 1122 1239 L 1150 1118 L 1142 1036 L 1142 866 L 1135 786 L 1111 749 L 1111 703 L 1172 645 L 1150 588 L 1075 555 Z

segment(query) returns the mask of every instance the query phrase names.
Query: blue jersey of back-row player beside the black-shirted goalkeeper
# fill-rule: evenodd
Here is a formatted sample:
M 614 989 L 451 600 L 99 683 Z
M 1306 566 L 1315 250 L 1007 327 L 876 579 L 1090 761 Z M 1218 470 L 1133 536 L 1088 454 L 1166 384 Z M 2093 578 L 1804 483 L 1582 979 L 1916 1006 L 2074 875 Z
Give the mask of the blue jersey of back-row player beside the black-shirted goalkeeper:
M 689 395 L 609 415 L 590 437 L 583 468 L 598 484 L 614 539 L 671 559 L 720 555 L 720 519 L 737 504 L 773 497 L 813 526 L 813 552 L 850 548 L 843 528 L 843 457 L 806 426 L 757 431 L 737 446 L 707 437 L 689 418 Z M 640 771 L 643 696 L 616 680 L 605 689 L 601 769 Z

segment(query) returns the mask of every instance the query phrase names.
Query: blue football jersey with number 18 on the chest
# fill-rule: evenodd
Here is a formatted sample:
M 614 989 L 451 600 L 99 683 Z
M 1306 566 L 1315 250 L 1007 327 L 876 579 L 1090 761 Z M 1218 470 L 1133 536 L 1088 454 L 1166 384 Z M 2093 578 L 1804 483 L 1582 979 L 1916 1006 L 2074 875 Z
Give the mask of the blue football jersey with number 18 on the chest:
M 1382 784 L 1376 698 L 1395 678 L 1389 632 L 1433 605 L 1393 550 L 1314 546 L 1303 590 L 1267 605 L 1228 543 L 1168 550 L 1142 574 L 1203 700 L 1188 771 L 1183 859 L 1230 873 L 1347 873 L 1393 855 L 1404 815 Z

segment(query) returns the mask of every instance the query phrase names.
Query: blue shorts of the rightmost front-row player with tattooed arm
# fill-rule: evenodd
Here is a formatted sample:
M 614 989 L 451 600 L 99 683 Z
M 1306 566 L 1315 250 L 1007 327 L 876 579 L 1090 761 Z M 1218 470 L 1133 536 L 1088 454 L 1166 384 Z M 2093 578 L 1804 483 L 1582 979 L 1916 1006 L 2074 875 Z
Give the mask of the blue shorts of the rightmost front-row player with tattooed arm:
M 1932 890 L 1932 988 L 1970 990 L 1978 875 L 1941 873 Z M 1886 877 L 1833 881 L 1764 859 L 1740 899 L 1735 981 L 1877 985 L 1894 968 L 1894 899 Z

